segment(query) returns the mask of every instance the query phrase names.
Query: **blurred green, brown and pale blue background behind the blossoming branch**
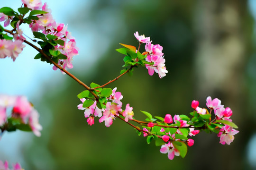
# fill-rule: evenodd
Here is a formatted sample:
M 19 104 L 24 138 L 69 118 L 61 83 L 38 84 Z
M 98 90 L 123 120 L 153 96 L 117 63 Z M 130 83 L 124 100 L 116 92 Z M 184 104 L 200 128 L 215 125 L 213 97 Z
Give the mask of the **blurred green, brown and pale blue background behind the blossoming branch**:
M 58 23 L 68 24 L 79 56 L 69 71 L 85 84 L 104 84 L 119 75 L 119 43 L 138 45 L 133 33 L 164 47 L 168 73 L 160 79 L 137 68 L 107 87 L 117 87 L 136 119 L 140 110 L 155 116 L 186 114 L 192 100 L 206 107 L 207 96 L 233 110 L 240 131 L 230 145 L 216 134 L 193 137 L 183 159 L 168 160 L 126 123 L 90 127 L 77 109 L 84 88 L 52 65 L 33 59 L 27 46 L 13 62 L 0 60 L 0 93 L 26 95 L 40 113 L 42 136 L 5 133 L 0 160 L 25 170 L 255 170 L 256 169 L 256 0 L 62 0 L 47 2 Z M 19 0 L 0 7 L 21 6 Z M 2 24 L 2 23 L 1 23 Z M 29 36 L 29 29 L 22 28 Z M 30 37 L 32 37 L 30 35 Z

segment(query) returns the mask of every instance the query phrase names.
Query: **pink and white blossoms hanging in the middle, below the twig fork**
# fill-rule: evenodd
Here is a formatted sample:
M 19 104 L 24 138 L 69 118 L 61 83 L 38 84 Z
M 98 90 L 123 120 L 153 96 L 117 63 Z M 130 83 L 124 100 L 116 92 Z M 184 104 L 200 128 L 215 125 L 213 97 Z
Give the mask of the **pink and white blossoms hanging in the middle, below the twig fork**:
M 99 109 L 96 101 L 93 102 L 90 107 L 84 108 L 82 105 L 86 99 L 80 99 L 82 103 L 77 107 L 79 110 L 84 110 L 84 117 L 87 118 L 87 123 L 89 125 L 94 124 L 94 117 L 99 117 L 100 123 L 104 121 L 105 126 L 110 127 L 113 123 L 113 119 L 115 119 L 116 116 L 119 116 L 119 112 L 122 112 L 122 116 L 124 117 L 125 121 L 128 121 L 128 119 L 133 119 L 133 108 L 127 104 L 124 111 L 121 109 L 122 102 L 120 100 L 123 98 L 123 96 L 120 92 L 116 92 L 116 90 L 117 88 L 114 88 L 110 97 L 107 98 L 105 109 Z

